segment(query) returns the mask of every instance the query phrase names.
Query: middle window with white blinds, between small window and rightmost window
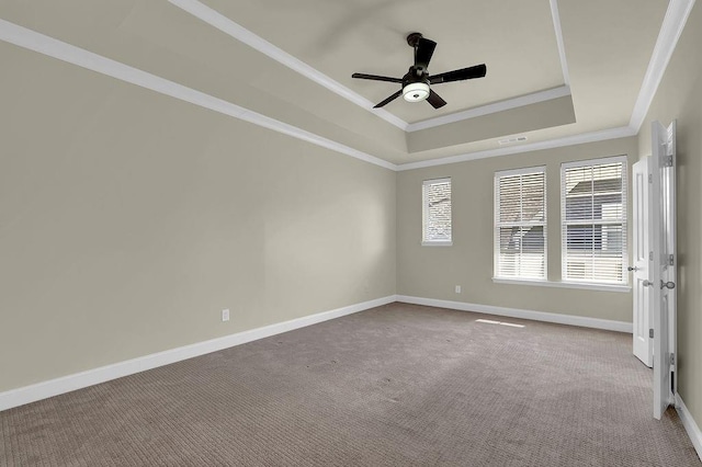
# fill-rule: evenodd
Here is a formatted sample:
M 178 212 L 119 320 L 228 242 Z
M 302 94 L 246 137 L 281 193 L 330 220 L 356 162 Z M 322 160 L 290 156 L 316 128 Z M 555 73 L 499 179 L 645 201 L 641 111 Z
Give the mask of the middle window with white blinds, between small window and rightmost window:
M 495 173 L 495 277 L 546 280 L 546 168 Z

